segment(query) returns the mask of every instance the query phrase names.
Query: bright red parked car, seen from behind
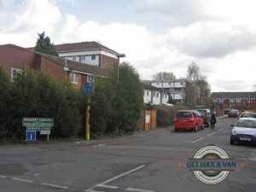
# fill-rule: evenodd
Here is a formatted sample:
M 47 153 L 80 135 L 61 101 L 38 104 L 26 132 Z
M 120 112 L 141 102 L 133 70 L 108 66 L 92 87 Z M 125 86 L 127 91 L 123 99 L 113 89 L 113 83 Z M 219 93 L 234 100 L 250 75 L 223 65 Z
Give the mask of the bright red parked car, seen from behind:
M 198 111 L 195 110 L 179 110 L 175 114 L 173 120 L 174 130 L 194 130 L 198 128 L 204 129 L 204 121 Z

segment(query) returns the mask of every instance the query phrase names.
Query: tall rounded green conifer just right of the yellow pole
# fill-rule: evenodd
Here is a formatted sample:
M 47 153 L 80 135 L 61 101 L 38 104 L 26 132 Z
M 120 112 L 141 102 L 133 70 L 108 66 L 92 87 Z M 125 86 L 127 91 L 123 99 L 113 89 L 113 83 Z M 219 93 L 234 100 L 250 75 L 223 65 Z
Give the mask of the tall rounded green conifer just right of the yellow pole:
M 116 79 L 118 66 L 110 73 L 108 98 L 111 110 L 108 117 L 108 131 L 117 127 L 121 131 L 135 131 L 143 109 L 143 86 L 139 75 L 128 63 L 119 65 L 119 82 Z

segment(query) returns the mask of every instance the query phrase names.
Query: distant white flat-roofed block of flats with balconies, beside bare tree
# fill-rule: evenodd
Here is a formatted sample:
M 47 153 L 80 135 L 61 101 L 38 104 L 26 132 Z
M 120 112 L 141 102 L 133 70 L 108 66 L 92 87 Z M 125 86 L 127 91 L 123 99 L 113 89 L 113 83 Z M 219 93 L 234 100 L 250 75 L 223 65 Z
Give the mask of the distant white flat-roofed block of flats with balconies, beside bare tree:
M 175 102 L 189 101 L 190 83 L 186 79 L 173 79 L 173 80 L 142 80 L 143 84 L 152 85 L 163 91 L 169 98 Z

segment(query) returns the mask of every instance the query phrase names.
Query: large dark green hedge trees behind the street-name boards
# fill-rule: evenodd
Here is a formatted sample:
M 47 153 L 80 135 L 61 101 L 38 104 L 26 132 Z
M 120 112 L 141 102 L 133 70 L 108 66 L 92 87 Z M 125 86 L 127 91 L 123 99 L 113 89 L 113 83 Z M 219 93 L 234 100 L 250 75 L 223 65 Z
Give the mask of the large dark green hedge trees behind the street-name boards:
M 83 97 L 71 84 L 27 68 L 17 73 L 10 83 L 3 67 L 0 67 L 0 85 L 1 141 L 24 140 L 26 128 L 21 124 L 23 117 L 54 118 L 51 137 L 78 136 L 82 125 L 79 109 Z

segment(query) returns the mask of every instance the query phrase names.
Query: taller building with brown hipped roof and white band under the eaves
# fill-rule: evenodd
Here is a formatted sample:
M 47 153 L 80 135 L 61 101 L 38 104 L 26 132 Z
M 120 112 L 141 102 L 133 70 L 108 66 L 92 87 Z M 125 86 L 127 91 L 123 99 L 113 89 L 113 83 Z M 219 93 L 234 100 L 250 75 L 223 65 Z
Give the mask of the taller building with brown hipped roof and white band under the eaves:
M 95 41 L 54 46 L 62 58 L 110 70 L 119 57 L 124 56 Z

